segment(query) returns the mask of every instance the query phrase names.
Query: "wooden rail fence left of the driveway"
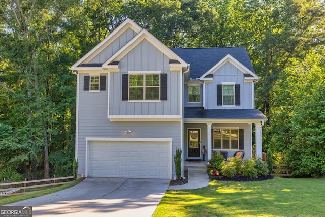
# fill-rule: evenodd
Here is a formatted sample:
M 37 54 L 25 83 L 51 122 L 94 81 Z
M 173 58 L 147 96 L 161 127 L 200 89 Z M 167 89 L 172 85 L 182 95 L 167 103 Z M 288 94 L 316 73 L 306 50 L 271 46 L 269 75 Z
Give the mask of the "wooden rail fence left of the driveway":
M 59 178 L 55 178 L 54 176 L 54 178 L 48 178 L 48 179 L 40 179 L 40 180 L 32 180 L 32 181 L 27 181 L 25 179 L 25 181 L 0 183 L 0 197 L 17 195 L 17 194 L 25 194 L 26 189 L 35 189 L 35 188 L 42 188 L 42 187 L 49 187 L 49 186 L 55 187 L 56 185 L 71 183 L 72 181 L 73 181 L 73 176 L 59 177 Z M 24 190 L 24 192 L 15 193 L 21 190 Z

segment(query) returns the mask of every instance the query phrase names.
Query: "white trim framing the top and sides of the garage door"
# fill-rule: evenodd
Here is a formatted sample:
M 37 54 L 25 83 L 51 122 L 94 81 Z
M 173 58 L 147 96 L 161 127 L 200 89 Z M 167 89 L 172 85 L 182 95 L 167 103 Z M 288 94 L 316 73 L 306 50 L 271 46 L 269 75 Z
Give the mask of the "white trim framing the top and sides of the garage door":
M 115 141 L 115 142 L 166 142 L 170 145 L 170 179 L 173 176 L 173 156 L 172 156 L 172 149 L 173 149 L 173 138 L 137 138 L 137 137 L 86 137 L 86 159 L 85 159 L 85 177 L 88 177 L 89 173 L 89 162 L 88 162 L 88 142 L 89 141 Z

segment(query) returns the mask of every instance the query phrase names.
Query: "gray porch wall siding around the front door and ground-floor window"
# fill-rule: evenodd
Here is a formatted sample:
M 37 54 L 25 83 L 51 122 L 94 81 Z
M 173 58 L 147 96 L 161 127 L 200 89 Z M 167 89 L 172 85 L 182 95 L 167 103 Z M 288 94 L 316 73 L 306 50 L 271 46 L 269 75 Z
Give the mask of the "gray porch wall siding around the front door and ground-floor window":
M 213 127 L 239 127 L 239 129 L 244 129 L 244 152 L 245 152 L 245 159 L 251 157 L 252 154 L 252 140 L 251 140 L 251 136 L 252 136 L 252 130 L 251 130 L 251 125 L 248 125 L 247 123 L 245 124 L 213 124 L 212 125 L 212 129 Z M 208 133 L 212 133 L 212 132 L 207 132 L 207 125 L 206 124 L 199 124 L 199 123 L 193 123 L 193 124 L 185 124 L 184 125 L 184 137 L 183 137 L 183 141 L 184 141 L 184 159 L 186 160 L 187 158 L 187 129 L 201 129 L 201 150 L 203 148 L 203 145 L 205 145 L 206 149 L 208 148 L 212 148 L 212 147 L 208 147 L 208 141 L 207 141 L 207 135 Z M 213 137 L 212 137 L 213 138 Z M 212 144 L 213 145 L 213 144 Z M 216 151 L 220 151 L 220 150 L 216 150 Z M 236 150 L 229 150 L 228 151 L 228 157 L 233 157 L 235 154 Z M 200 159 L 202 159 L 202 153 L 200 156 Z M 191 157 L 191 159 L 193 159 Z M 207 157 L 205 157 L 205 159 L 207 159 Z

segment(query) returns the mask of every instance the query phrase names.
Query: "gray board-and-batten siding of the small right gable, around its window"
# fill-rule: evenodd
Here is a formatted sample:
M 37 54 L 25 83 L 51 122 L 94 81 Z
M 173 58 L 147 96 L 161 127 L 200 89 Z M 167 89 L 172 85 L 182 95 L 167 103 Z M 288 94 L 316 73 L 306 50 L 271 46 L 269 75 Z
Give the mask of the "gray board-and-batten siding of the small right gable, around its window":
M 240 84 L 240 106 L 217 106 L 217 85 L 222 82 Z M 244 82 L 244 74 L 231 63 L 224 64 L 213 74 L 213 82 L 205 85 L 205 109 L 252 109 L 252 82 Z

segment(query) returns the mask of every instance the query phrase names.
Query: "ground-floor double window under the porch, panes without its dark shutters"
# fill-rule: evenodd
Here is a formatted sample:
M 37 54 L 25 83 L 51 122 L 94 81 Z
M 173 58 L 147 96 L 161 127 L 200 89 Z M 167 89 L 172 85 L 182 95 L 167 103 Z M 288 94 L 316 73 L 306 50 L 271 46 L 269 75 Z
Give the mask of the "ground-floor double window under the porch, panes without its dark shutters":
M 239 149 L 239 130 L 213 129 L 213 149 Z

